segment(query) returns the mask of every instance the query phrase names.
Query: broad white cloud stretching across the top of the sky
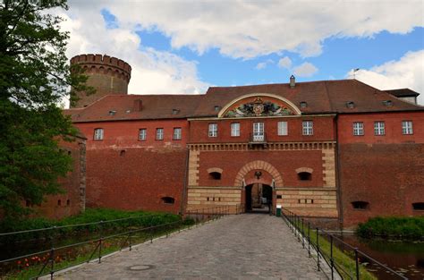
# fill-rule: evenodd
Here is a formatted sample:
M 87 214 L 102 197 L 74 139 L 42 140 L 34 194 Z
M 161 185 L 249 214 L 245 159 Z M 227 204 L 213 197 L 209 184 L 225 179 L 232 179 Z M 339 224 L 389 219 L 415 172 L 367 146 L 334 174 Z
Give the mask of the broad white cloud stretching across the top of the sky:
M 382 30 L 404 34 L 423 26 L 424 13 L 421 0 L 71 0 L 69 4 L 85 11 L 104 7 L 123 29 L 160 30 L 174 48 L 190 47 L 202 54 L 216 47 L 224 55 L 242 58 L 282 50 L 306 57 L 319 55 L 326 38 L 372 37 Z

